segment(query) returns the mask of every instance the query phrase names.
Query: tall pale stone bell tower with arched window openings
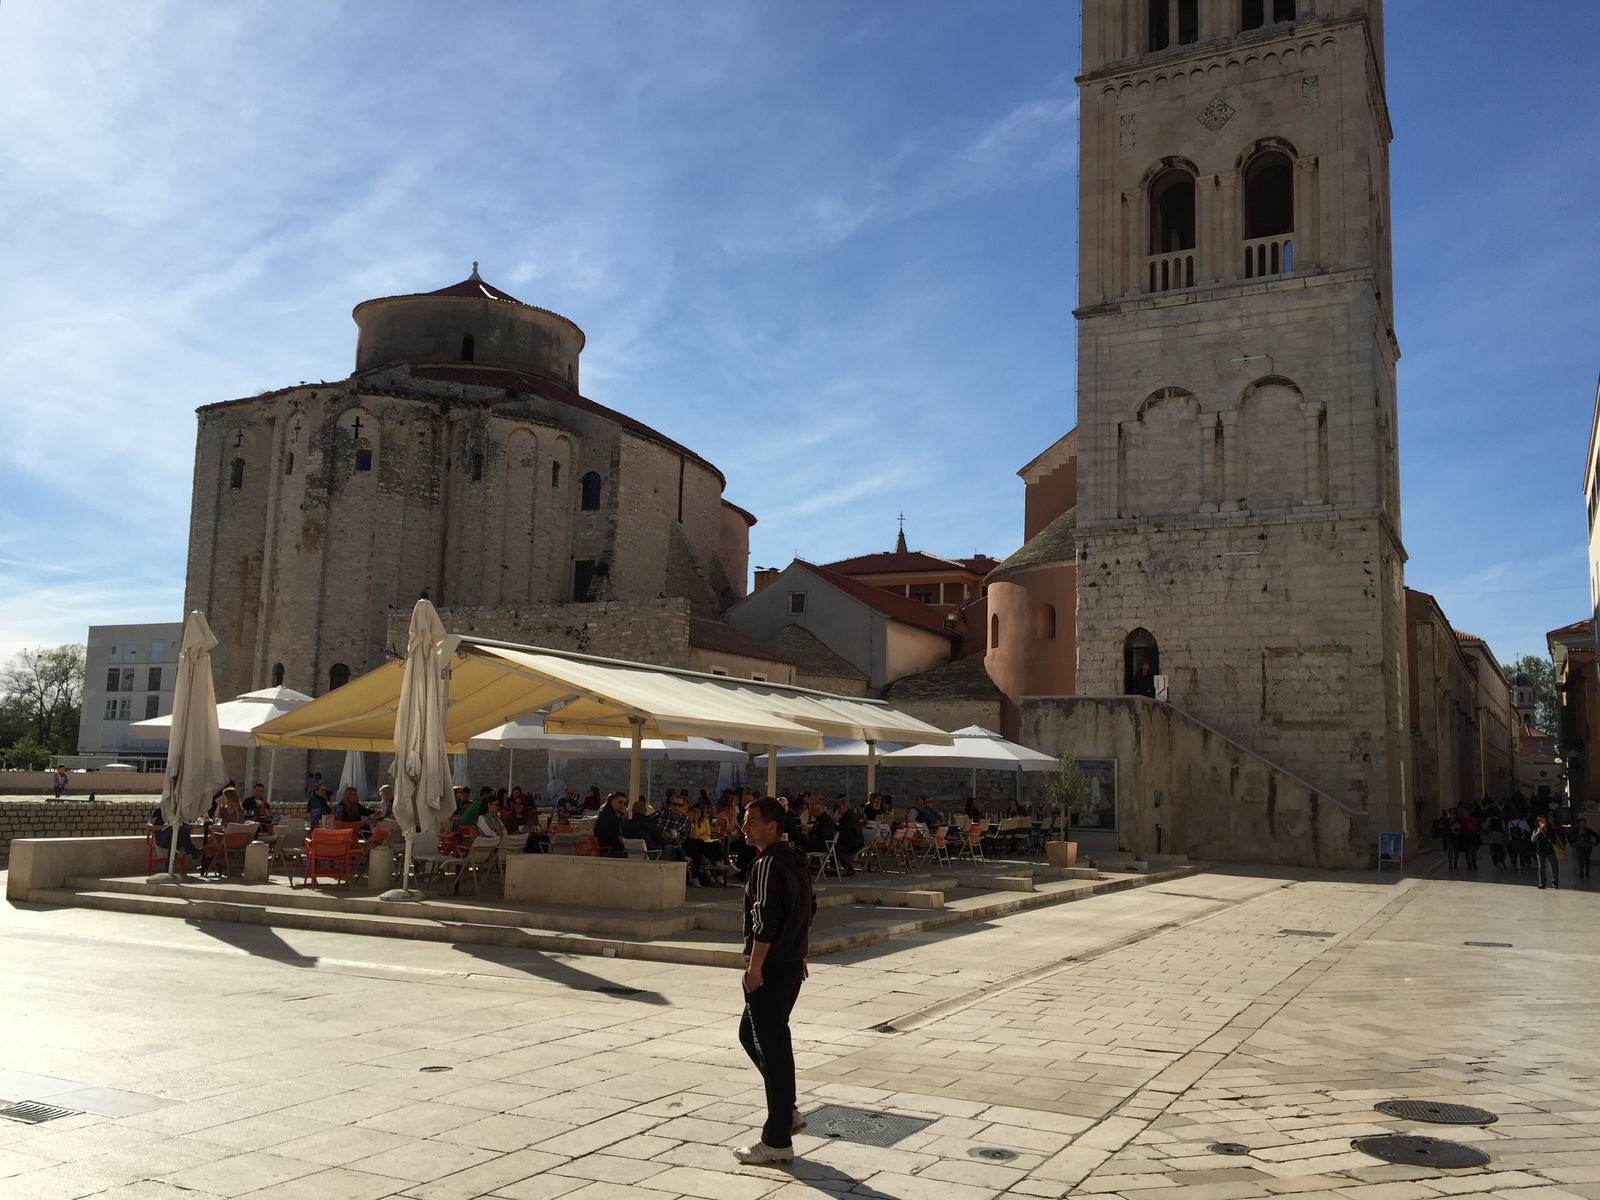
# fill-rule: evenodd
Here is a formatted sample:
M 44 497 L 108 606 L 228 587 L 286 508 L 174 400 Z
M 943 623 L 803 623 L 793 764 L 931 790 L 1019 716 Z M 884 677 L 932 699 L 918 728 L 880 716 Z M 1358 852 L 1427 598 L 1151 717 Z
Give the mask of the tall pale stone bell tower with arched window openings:
M 1083 0 L 1078 90 L 1078 693 L 1414 834 L 1381 3 Z

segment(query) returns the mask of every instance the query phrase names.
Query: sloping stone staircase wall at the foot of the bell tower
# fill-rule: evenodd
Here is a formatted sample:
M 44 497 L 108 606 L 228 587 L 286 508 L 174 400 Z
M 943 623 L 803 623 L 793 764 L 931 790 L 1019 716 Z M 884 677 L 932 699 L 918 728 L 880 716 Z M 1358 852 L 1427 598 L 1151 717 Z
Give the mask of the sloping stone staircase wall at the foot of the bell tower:
M 1360 813 L 1170 704 L 1029 699 L 1022 739 L 1046 754 L 1117 760 L 1118 843 L 1136 854 L 1365 867 L 1378 851 L 1378 829 Z

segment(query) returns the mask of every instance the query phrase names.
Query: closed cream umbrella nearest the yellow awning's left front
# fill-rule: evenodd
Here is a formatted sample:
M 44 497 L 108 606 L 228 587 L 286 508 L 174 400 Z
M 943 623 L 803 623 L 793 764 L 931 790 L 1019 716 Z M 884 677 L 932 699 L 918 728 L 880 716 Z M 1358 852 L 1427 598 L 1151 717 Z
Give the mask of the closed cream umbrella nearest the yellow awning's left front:
M 395 710 L 395 818 L 405 830 L 405 864 L 400 888 L 381 899 L 419 899 L 411 891 L 411 843 L 418 834 L 440 827 L 450 790 L 450 752 L 445 744 L 445 709 L 450 702 L 450 659 L 445 626 L 427 600 L 411 610 L 406 634 L 405 675 Z

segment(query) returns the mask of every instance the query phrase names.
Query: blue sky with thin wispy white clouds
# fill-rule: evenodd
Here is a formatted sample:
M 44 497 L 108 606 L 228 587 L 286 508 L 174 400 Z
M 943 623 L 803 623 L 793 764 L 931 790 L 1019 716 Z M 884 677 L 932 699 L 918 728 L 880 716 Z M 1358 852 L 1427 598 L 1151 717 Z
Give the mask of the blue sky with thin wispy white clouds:
M 1392 2 L 1406 582 L 1589 614 L 1600 5 Z M 198 405 L 486 280 L 693 446 L 752 563 L 1005 557 L 1072 427 L 1077 5 L 0 3 L 0 659 L 178 621 Z

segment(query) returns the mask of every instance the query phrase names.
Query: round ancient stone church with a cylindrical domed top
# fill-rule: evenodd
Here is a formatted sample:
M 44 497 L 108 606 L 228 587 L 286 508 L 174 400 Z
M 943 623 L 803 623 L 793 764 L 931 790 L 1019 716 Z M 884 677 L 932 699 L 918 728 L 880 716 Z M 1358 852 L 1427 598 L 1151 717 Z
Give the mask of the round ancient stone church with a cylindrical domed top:
M 354 317 L 347 379 L 198 410 L 184 611 L 221 640 L 219 698 L 339 686 L 421 595 L 715 616 L 746 594 L 755 518 L 693 450 L 582 395 L 573 322 L 477 264 Z

